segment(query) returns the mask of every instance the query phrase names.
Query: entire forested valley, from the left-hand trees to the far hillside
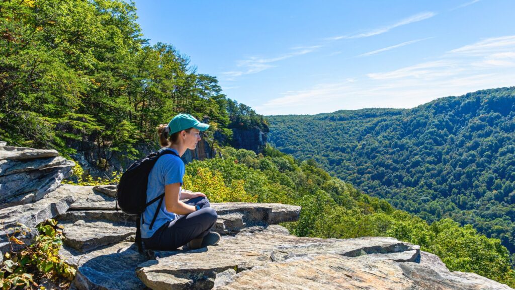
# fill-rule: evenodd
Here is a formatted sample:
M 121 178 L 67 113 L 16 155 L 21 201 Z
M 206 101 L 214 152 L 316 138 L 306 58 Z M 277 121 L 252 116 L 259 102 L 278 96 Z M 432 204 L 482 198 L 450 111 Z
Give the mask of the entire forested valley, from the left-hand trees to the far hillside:
M 501 240 L 444 218 L 473 223 L 511 245 L 511 90 L 414 110 L 268 121 L 228 99 L 215 76 L 197 73 L 173 45 L 149 45 L 132 3 L 3 1 L 0 14 L 0 140 L 8 146 L 70 157 L 71 144 L 89 141 L 100 151 L 135 157 L 141 154 L 136 144 L 156 142 L 156 127 L 178 112 L 209 122 L 203 138 L 211 141 L 215 135 L 230 140 L 231 128 L 267 132 L 271 125 L 273 142 L 293 156 L 271 146 L 253 152 L 220 142 L 218 157 L 186 166 L 184 187 L 213 202 L 301 205 L 299 220 L 285 224 L 295 235 L 392 236 L 437 254 L 451 270 L 515 286 Z M 476 171 L 488 174 L 476 178 Z M 90 184 L 86 176 L 75 177 Z M 499 232 L 486 232 L 489 223 Z

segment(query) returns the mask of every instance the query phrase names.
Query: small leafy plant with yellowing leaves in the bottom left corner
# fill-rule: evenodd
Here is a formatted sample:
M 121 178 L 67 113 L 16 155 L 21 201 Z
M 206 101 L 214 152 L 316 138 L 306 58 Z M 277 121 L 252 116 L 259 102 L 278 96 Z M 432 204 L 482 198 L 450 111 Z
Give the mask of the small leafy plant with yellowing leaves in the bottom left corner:
M 59 249 L 62 246 L 62 227 L 49 219 L 38 224 L 37 235 L 32 244 L 19 252 L 7 252 L 0 263 L 0 288 L 31 288 L 43 278 L 51 279 L 67 288 L 75 277 L 75 268 L 61 261 Z M 24 245 L 16 236 L 26 234 L 30 229 L 23 225 L 14 229 L 9 236 L 10 243 Z

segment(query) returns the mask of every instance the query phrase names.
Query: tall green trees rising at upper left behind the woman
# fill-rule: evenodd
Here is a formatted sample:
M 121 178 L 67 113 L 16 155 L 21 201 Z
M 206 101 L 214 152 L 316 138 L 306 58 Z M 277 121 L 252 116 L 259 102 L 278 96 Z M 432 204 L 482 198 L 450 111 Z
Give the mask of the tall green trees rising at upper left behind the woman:
M 174 46 L 148 45 L 135 10 L 118 0 L 0 2 L 0 138 L 64 155 L 89 141 L 102 159 L 137 154 L 134 144 L 154 141 L 178 112 L 206 116 L 228 138 L 230 127 L 264 126 Z

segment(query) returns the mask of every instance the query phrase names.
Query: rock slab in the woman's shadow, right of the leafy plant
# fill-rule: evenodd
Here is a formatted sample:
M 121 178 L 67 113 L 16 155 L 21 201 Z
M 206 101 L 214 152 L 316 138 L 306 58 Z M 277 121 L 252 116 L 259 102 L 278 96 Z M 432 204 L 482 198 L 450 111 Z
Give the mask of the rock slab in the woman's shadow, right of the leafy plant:
M 72 288 L 145 289 L 134 269 L 147 258 L 134 243 L 119 243 L 86 254 L 60 251 L 66 261 L 77 267 Z

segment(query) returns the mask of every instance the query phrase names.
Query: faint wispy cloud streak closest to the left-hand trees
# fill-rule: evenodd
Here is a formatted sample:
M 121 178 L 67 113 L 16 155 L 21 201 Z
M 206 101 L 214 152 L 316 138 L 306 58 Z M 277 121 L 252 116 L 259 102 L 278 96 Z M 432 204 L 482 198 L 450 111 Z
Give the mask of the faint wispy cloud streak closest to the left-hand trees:
M 241 70 L 222 72 L 222 74 L 224 74 L 228 77 L 234 78 L 234 77 L 242 76 L 242 75 L 246 75 L 246 74 L 259 73 L 266 69 L 276 67 L 274 65 L 271 65 L 271 63 L 278 62 L 278 61 L 288 59 L 291 57 L 295 57 L 295 56 L 308 54 L 308 53 L 311 53 L 311 52 L 317 50 L 320 47 L 321 47 L 321 45 L 297 46 L 297 47 L 292 47 L 291 52 L 289 52 L 287 54 L 283 54 L 278 57 L 263 58 L 263 57 L 253 56 L 253 57 L 249 57 L 244 60 L 238 60 L 238 61 L 236 61 L 236 66 L 238 68 L 241 68 Z

